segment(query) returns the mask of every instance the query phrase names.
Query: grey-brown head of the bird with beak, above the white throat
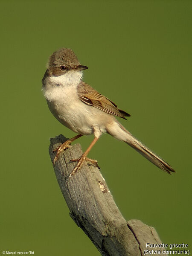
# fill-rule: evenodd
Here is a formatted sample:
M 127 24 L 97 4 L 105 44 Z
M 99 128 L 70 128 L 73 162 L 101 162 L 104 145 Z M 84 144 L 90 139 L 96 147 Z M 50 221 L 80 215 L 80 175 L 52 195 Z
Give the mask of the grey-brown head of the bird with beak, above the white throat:
M 49 76 L 62 76 L 71 70 L 81 71 L 87 68 L 80 64 L 72 49 L 61 48 L 50 56 L 47 73 Z

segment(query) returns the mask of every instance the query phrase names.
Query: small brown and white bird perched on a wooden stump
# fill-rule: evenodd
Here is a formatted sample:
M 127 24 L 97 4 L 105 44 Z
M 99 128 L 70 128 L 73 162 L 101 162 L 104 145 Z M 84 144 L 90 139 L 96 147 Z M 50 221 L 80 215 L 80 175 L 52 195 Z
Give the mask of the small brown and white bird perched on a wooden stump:
M 108 133 L 130 145 L 163 171 L 169 174 L 175 172 L 168 163 L 145 147 L 115 118 L 119 116 L 126 119 L 125 116 L 130 114 L 117 108 L 110 99 L 82 81 L 82 71 L 87 68 L 80 64 L 75 53 L 69 48 L 61 48 L 53 52 L 49 58 L 47 70 L 42 79 L 42 91 L 49 110 L 59 122 L 78 134 L 55 150 L 56 156 L 53 163 L 58 160 L 62 150 L 69 148 L 71 142 L 82 135 L 94 134 L 94 140 L 81 157 L 71 160 L 77 164 L 70 177 L 80 169 L 85 160 L 96 165 L 97 161 L 87 158 L 87 154 L 102 133 Z

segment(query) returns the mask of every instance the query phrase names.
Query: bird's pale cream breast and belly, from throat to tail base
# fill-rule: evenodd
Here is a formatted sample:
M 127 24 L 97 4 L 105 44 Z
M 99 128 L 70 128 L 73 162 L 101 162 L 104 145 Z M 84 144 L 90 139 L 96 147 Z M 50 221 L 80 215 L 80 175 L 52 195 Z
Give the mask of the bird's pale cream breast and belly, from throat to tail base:
M 105 132 L 108 119 L 113 119 L 113 116 L 79 99 L 78 80 L 70 80 L 72 83 L 67 80 L 64 83 L 63 79 L 49 78 L 42 89 L 50 111 L 72 131 L 83 135 L 96 133 L 99 137 Z

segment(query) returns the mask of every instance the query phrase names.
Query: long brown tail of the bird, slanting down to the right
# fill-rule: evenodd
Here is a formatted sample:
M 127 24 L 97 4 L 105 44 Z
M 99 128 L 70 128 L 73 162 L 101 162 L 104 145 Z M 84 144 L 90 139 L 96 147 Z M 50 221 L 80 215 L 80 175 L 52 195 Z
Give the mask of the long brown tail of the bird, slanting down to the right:
M 122 140 L 130 145 L 163 171 L 169 174 L 171 174 L 171 172 L 175 172 L 175 170 L 168 163 L 166 163 L 161 157 L 154 154 L 149 148 L 145 147 L 145 145 L 143 145 L 130 132 L 128 132 L 117 120 L 107 126 L 107 132 L 117 140 Z

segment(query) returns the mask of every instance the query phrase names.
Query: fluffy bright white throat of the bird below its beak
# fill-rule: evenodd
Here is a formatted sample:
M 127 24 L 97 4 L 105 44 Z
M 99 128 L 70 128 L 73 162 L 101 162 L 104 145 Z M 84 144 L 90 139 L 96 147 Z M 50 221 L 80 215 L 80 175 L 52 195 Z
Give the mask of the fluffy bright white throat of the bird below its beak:
M 63 100 L 64 96 L 77 90 L 77 86 L 82 79 L 83 72 L 70 70 L 62 76 L 49 76 L 42 87 L 45 98 L 52 102 Z

